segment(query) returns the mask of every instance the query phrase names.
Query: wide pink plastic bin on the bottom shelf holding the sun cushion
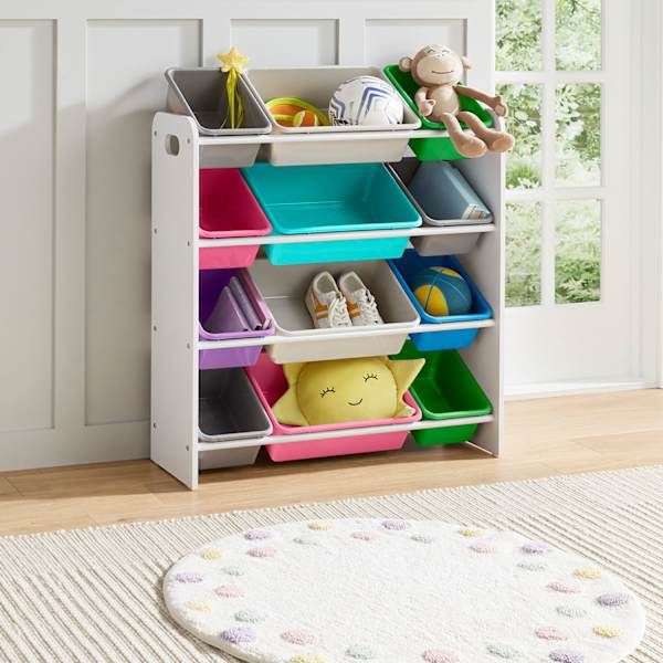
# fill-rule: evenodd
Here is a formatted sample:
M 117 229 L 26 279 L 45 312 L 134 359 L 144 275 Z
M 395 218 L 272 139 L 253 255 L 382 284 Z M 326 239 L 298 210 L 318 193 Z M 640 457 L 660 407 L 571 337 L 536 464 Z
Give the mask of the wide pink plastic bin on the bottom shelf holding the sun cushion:
M 406 402 L 414 408 L 411 417 L 400 419 L 381 419 L 375 421 L 348 421 L 346 423 L 334 423 L 326 425 L 284 425 L 276 421 L 272 412 L 272 406 L 283 396 L 287 389 L 287 382 L 283 375 L 283 368 L 274 364 L 264 352 L 260 356 L 257 364 L 246 368 L 249 379 L 260 398 L 267 417 L 272 421 L 274 435 L 293 435 L 296 433 L 313 433 L 323 431 L 339 431 L 338 438 L 322 440 L 309 440 L 307 442 L 291 442 L 287 444 L 266 444 L 265 449 L 270 457 L 281 463 L 282 461 L 298 461 L 302 459 L 319 459 L 334 455 L 347 455 L 350 453 L 370 453 L 373 451 L 393 451 L 401 449 L 406 443 L 408 431 L 396 431 L 393 433 L 376 433 L 370 435 L 341 435 L 340 431 L 354 428 L 366 428 L 369 425 L 387 425 L 390 423 L 409 423 L 421 419 L 421 410 L 410 392 L 406 393 Z

